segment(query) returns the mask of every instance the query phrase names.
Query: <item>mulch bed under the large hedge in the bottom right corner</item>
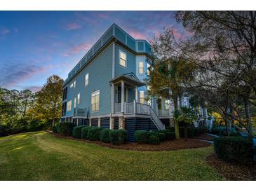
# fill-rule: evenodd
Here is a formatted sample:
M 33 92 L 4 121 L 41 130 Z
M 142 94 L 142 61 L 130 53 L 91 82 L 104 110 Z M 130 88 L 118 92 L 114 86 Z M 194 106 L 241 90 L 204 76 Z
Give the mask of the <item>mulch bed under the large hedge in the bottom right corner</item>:
M 211 154 L 206 159 L 208 164 L 214 167 L 217 172 L 229 181 L 255 181 L 256 180 L 256 163 L 248 165 L 238 165 L 236 163 L 227 163 Z

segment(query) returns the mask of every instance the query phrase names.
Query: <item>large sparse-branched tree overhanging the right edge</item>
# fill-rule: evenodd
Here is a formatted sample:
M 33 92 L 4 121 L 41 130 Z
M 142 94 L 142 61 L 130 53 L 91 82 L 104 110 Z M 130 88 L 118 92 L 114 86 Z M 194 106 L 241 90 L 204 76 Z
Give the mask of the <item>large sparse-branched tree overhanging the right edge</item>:
M 222 115 L 227 128 L 238 121 L 252 134 L 256 11 L 179 11 L 176 19 L 191 34 L 187 55 L 199 69 L 191 90 Z

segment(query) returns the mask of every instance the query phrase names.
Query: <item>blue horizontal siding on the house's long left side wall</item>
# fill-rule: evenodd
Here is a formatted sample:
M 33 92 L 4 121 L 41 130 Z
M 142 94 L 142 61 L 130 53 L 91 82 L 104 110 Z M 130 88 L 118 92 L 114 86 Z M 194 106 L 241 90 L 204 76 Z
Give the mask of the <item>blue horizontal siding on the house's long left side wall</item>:
M 73 115 L 74 97 L 80 92 L 80 104 L 77 108 L 87 109 L 90 112 L 91 93 L 100 90 L 100 110 L 90 112 L 90 116 L 110 114 L 110 85 L 112 79 L 112 50 L 113 46 L 109 45 L 93 62 L 88 64 L 74 80 L 76 88 L 67 88 L 67 101 L 72 100 L 72 111 L 67 112 L 67 116 Z M 89 73 L 89 84 L 85 86 L 85 76 Z

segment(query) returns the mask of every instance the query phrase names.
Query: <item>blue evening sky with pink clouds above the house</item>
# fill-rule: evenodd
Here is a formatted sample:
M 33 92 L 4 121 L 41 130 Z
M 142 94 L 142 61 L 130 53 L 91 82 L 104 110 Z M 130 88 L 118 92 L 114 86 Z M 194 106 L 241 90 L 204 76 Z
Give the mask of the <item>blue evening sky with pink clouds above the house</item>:
M 0 86 L 38 90 L 70 69 L 115 22 L 135 39 L 163 27 L 185 35 L 173 11 L 0 11 Z

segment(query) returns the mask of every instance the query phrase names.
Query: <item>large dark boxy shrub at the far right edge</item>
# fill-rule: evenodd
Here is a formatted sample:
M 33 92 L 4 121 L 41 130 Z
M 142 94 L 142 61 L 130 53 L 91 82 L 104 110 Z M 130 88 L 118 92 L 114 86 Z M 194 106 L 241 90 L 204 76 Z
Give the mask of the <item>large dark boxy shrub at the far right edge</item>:
M 252 139 L 243 137 L 218 137 L 214 139 L 218 158 L 236 163 L 248 163 L 253 157 Z

